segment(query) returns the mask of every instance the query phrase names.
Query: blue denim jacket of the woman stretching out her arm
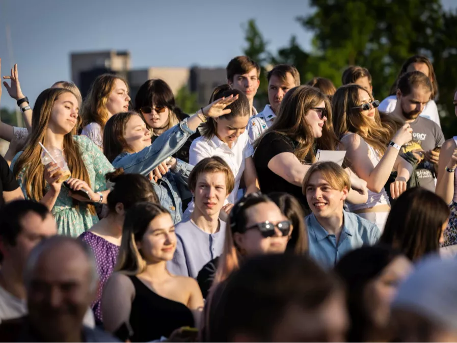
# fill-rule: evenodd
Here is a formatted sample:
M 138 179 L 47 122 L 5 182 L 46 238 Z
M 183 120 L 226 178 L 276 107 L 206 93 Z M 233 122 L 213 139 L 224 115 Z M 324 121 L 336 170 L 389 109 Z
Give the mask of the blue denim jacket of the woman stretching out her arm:
M 113 161 L 115 168 L 123 168 L 125 173 L 137 173 L 148 176 L 168 156 L 171 156 L 181 148 L 187 139 L 194 134 L 187 126 L 187 120 L 181 121 L 178 125 L 160 135 L 154 142 L 135 153 L 123 152 Z M 160 205 L 169 210 L 175 224 L 182 220 L 182 199 L 191 197 L 187 189 L 187 179 L 193 166 L 177 160 L 173 172 L 168 172 L 157 182 L 152 180 L 152 186 L 160 201 Z

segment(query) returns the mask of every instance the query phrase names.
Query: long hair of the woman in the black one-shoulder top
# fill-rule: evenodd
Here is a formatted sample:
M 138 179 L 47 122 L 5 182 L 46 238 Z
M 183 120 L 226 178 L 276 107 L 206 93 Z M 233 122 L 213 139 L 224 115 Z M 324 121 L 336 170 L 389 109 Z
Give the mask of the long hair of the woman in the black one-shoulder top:
M 137 242 L 143 239 L 149 224 L 163 214 L 170 215 L 164 207 L 151 202 L 138 202 L 127 210 L 115 267 L 116 272 L 126 275 L 138 275 L 144 272 L 146 261 Z

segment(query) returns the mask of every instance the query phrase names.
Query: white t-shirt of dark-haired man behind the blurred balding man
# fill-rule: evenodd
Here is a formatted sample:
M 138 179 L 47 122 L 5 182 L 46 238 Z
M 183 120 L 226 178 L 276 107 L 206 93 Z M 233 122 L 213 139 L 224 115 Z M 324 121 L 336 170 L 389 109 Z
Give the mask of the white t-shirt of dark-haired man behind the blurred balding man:
M 9 319 L 23 317 L 27 313 L 27 302 L 25 299 L 16 298 L 0 286 L 0 323 Z M 90 308 L 84 316 L 83 324 L 89 328 L 95 328 L 94 313 L 92 313 Z

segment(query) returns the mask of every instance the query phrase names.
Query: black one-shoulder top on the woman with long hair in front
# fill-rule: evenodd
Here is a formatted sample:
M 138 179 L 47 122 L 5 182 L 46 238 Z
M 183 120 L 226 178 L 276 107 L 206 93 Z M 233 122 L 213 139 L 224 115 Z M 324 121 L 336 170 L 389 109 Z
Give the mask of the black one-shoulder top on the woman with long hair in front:
M 136 276 L 129 278 L 135 286 L 129 319 L 133 330 L 131 343 L 169 337 L 183 326 L 194 327 L 194 316 L 187 306 L 159 296 Z

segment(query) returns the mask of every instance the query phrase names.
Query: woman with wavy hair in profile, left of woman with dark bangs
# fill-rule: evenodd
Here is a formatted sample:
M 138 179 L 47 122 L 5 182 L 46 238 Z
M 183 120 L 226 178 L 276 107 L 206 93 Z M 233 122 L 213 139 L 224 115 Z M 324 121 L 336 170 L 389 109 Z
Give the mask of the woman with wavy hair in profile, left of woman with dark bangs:
M 127 81 L 118 75 L 98 76 L 81 110 L 83 130 L 99 148 L 103 148 L 103 128 L 112 116 L 128 111 L 130 96 Z

